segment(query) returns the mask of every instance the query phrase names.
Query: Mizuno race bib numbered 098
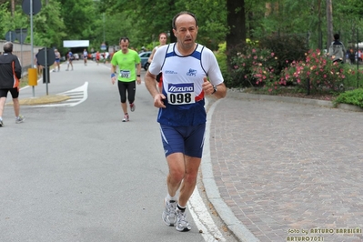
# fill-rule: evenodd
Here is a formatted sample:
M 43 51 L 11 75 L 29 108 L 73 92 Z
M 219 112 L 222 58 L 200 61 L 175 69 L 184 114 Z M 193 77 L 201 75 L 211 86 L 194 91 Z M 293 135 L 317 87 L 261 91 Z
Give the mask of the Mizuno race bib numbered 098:
M 187 105 L 196 102 L 193 83 L 169 84 L 167 102 L 171 105 Z

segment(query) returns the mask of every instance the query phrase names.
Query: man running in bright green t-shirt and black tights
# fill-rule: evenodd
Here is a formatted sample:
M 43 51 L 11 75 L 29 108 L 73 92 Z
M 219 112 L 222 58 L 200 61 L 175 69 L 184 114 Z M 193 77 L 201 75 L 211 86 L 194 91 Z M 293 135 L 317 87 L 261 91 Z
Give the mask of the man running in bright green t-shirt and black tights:
M 124 111 L 124 119 L 122 122 L 129 121 L 127 113 L 126 99 L 130 104 L 131 112 L 135 111 L 135 95 L 136 95 L 136 82 L 141 84 L 141 60 L 140 56 L 135 50 L 129 49 L 130 41 L 127 37 L 120 38 L 121 51 L 117 51 L 112 56 L 111 60 L 111 81 L 115 84 L 116 80 L 118 86 L 118 92 L 121 96 L 121 107 Z M 116 67 L 118 66 L 119 73 L 116 73 Z M 136 66 L 136 67 L 135 67 Z M 126 98 L 127 93 L 127 98 Z

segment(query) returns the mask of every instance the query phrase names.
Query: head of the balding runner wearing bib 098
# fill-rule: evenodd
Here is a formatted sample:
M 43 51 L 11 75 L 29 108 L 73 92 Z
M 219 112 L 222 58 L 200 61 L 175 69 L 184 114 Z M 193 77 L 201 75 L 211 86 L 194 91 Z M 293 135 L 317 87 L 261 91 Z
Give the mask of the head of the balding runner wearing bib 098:
M 191 15 L 179 15 L 176 18 L 176 29 L 173 29 L 177 43 L 184 47 L 194 47 L 197 39 L 196 20 Z

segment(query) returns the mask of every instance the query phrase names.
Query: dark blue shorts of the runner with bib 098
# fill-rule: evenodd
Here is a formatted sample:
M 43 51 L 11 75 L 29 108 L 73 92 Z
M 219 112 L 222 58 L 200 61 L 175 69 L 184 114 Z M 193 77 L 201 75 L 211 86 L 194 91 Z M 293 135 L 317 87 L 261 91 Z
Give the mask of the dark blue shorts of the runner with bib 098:
M 183 153 L 187 156 L 202 157 L 206 124 L 198 126 L 160 125 L 165 156 Z

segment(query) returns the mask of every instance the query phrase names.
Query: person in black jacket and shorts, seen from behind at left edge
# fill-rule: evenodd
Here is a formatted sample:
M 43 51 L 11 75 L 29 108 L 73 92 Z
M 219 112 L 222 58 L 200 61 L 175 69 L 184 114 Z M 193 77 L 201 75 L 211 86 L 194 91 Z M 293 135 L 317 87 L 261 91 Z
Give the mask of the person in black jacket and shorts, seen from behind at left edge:
M 15 123 L 23 123 L 24 116 L 20 116 L 19 104 L 19 80 L 22 76 L 22 66 L 19 58 L 12 54 L 13 43 L 6 42 L 4 44 L 4 55 L 0 55 L 0 126 L 4 126 L 3 112 L 7 93 L 10 92 L 13 97 Z

